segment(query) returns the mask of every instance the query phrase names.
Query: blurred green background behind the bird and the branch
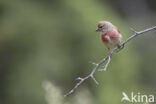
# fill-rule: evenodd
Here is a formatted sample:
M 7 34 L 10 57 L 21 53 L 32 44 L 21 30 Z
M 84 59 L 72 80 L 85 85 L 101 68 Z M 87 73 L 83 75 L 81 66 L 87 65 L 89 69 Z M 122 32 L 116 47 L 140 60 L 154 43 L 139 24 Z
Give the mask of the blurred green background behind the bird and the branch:
M 1 0 L 0 104 L 121 104 L 122 92 L 156 96 L 156 31 L 137 37 L 67 99 L 75 78 L 107 54 L 95 32 L 111 21 L 123 40 L 130 27 L 156 25 L 155 0 Z M 129 104 L 122 102 L 122 104 Z M 141 103 L 142 104 L 142 103 Z

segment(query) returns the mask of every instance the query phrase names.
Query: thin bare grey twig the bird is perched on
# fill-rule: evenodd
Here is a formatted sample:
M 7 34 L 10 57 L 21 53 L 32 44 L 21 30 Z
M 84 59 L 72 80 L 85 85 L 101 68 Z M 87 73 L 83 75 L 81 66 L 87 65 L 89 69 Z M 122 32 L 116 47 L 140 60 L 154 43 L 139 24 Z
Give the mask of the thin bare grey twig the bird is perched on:
M 127 42 L 129 42 L 130 40 L 134 39 L 136 36 L 139 36 L 143 33 L 146 33 L 146 32 L 149 32 L 149 31 L 152 31 L 156 29 L 156 26 L 153 26 L 153 27 L 150 27 L 150 28 L 147 28 L 147 29 L 144 29 L 144 30 L 141 30 L 141 31 L 136 31 L 134 30 L 133 28 L 131 28 L 131 30 L 134 32 L 134 34 L 132 34 L 127 40 L 123 41 L 120 46 L 123 47 Z M 120 51 L 121 47 L 116 47 L 114 48 L 104 59 L 102 59 L 101 61 L 99 61 L 98 63 L 94 63 L 94 62 L 91 62 L 93 65 L 95 65 L 95 67 L 93 68 L 93 70 L 91 71 L 91 73 L 84 77 L 84 78 L 81 78 L 81 77 L 78 77 L 77 80 L 79 80 L 79 82 L 74 86 L 73 89 L 71 89 L 68 93 L 66 93 L 64 95 L 64 97 L 66 98 L 67 96 L 69 96 L 70 94 L 72 94 L 85 80 L 89 79 L 89 78 L 92 78 L 93 81 L 98 85 L 99 83 L 96 81 L 95 77 L 94 77 L 94 74 L 95 72 L 97 71 L 97 69 L 106 61 L 107 63 L 105 64 L 104 68 L 101 70 L 101 71 L 105 71 L 108 67 L 108 65 L 110 64 L 111 62 L 111 56 L 115 53 L 115 52 L 118 52 Z

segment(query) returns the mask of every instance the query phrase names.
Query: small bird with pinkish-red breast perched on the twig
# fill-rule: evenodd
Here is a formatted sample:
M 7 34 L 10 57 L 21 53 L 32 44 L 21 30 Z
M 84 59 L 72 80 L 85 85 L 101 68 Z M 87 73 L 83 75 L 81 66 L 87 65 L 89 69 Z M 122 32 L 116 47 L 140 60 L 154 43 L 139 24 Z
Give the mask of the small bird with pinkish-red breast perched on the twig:
M 99 21 L 96 31 L 100 32 L 104 46 L 110 50 L 114 47 L 120 48 L 122 35 L 116 26 L 109 21 Z

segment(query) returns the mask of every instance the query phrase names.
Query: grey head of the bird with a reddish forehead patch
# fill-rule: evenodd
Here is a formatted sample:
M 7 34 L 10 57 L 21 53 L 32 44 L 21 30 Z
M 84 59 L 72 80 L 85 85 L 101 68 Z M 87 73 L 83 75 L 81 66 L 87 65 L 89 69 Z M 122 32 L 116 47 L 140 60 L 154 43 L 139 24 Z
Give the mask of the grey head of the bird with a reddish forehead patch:
M 98 32 L 107 32 L 108 30 L 110 30 L 113 27 L 111 22 L 108 21 L 99 21 L 96 31 Z

